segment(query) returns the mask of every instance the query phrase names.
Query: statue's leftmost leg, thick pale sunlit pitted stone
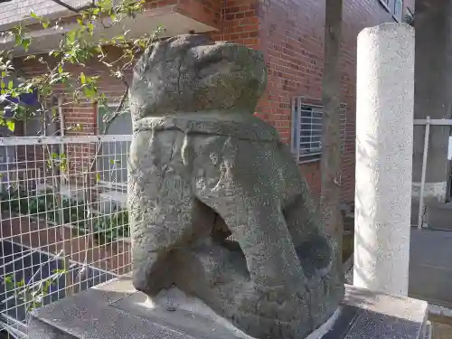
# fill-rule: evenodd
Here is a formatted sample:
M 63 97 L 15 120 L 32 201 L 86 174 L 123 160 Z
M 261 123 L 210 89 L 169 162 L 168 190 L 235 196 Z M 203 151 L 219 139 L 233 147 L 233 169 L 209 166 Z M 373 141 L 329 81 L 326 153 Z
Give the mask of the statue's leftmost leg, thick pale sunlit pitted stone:
M 181 155 L 184 137 L 180 131 L 143 131 L 130 148 L 128 203 L 134 285 L 151 296 L 172 282 L 172 251 L 187 246 L 195 227 L 212 223 L 187 179 Z

